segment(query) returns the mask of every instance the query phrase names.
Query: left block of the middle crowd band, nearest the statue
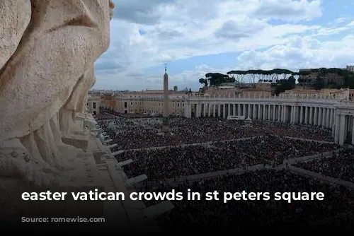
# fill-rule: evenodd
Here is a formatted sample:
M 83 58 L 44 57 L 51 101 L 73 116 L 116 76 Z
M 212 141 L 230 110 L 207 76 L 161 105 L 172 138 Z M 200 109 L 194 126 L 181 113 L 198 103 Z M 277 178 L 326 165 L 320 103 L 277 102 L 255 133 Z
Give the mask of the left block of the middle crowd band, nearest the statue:
M 127 151 L 116 155 L 116 158 L 118 158 L 118 161 L 134 160 L 133 163 L 124 167 L 127 177 L 145 174 L 151 181 L 161 181 L 169 178 L 179 178 L 263 163 L 261 158 L 255 158 L 247 153 L 235 152 L 232 148 L 213 146 Z

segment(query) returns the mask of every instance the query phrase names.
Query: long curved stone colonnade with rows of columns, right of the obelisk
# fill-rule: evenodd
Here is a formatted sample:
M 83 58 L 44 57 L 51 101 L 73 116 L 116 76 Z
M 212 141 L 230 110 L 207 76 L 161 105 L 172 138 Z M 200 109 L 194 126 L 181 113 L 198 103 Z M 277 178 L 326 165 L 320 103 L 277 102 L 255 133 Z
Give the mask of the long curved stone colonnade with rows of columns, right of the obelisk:
M 208 98 L 185 100 L 185 117 L 250 117 L 331 129 L 334 141 L 343 145 L 348 135 L 354 144 L 354 102 L 333 98 Z

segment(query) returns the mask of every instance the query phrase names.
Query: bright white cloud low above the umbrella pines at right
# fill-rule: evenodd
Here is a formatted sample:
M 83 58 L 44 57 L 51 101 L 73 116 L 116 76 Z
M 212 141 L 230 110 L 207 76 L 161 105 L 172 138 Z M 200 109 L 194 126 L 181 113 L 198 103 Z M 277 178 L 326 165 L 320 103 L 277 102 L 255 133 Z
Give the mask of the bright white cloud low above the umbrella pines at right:
M 341 41 L 319 42 L 311 37 L 295 37 L 264 52 L 246 51 L 237 60 L 240 69 L 343 67 L 354 54 L 354 35 Z

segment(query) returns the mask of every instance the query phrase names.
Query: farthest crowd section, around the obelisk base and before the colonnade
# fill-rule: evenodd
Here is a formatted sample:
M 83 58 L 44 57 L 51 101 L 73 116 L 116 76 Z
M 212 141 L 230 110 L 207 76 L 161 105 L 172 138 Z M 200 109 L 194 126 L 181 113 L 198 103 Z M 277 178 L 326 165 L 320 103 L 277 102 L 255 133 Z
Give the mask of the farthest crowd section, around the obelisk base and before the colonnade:
M 198 119 L 173 117 L 170 120 L 171 133 L 163 135 L 160 118 L 127 119 L 103 113 L 98 114 L 98 119 L 98 124 L 113 139 L 113 143 L 118 144 L 118 149 L 179 146 L 186 143 L 224 141 L 263 134 L 333 141 L 331 133 L 326 130 L 274 122 L 255 121 L 251 126 L 246 126 L 243 121 L 212 117 Z

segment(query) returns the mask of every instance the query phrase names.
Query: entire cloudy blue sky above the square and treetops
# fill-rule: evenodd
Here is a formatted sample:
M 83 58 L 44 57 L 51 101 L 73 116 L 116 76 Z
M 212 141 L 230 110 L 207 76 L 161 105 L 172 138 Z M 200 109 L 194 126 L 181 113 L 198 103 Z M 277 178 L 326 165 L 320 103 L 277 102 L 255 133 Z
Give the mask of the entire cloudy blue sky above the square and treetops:
M 196 90 L 208 72 L 354 65 L 353 0 L 113 0 L 94 89 Z

